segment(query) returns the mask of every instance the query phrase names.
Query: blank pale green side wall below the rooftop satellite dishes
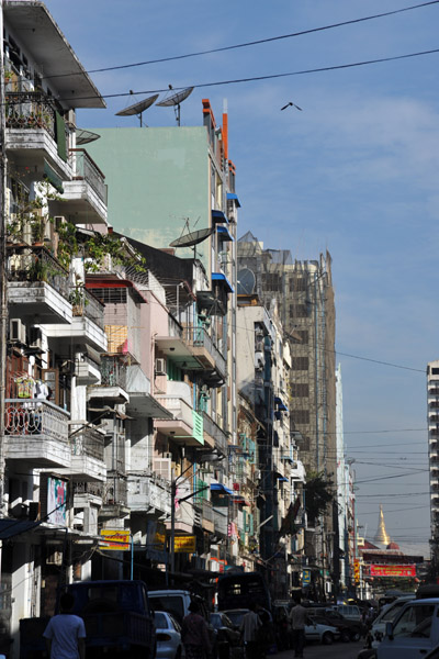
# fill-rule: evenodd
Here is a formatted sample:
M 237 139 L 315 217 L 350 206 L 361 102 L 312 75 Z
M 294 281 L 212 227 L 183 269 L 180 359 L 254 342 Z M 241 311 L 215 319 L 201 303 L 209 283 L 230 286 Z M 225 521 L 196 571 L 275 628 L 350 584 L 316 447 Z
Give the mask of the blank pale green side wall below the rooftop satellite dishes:
M 105 175 L 109 224 L 154 247 L 169 247 L 190 231 L 210 226 L 207 132 L 195 127 L 93 129 L 86 149 Z M 196 225 L 195 225 L 196 223 Z M 196 246 L 209 271 L 210 241 Z M 193 249 L 176 255 L 192 257 Z

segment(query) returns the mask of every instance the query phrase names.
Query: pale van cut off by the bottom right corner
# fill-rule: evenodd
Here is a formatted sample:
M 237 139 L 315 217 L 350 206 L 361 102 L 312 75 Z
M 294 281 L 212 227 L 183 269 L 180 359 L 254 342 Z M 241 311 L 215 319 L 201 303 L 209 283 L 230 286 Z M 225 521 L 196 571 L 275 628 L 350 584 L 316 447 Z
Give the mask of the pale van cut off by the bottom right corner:
M 413 659 L 439 645 L 439 599 L 407 602 L 376 648 L 378 659 Z

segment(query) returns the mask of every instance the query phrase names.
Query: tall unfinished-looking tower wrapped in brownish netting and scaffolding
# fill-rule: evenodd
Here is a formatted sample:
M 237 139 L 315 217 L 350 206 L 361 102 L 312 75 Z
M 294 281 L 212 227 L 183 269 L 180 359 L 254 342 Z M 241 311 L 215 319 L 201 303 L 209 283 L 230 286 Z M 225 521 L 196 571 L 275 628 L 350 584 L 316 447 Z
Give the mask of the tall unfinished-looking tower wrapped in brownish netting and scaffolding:
M 275 300 L 279 317 L 292 350 L 289 409 L 291 431 L 308 474 L 324 474 L 337 483 L 335 304 L 330 255 L 318 260 L 293 260 L 288 249 L 264 248 L 251 232 L 238 241 L 238 294 L 258 294 L 270 308 Z M 327 595 L 334 557 L 333 510 L 308 524 L 305 555 Z

